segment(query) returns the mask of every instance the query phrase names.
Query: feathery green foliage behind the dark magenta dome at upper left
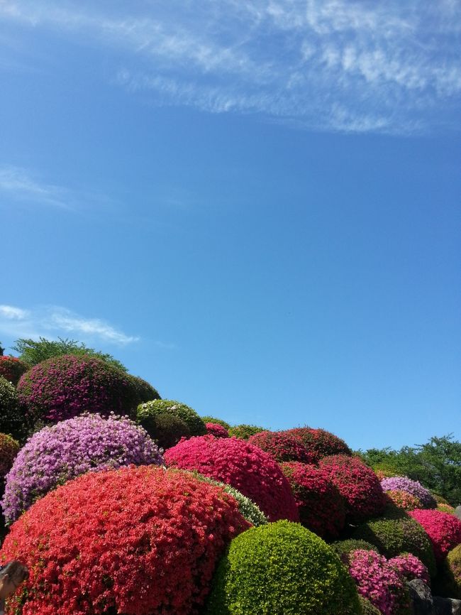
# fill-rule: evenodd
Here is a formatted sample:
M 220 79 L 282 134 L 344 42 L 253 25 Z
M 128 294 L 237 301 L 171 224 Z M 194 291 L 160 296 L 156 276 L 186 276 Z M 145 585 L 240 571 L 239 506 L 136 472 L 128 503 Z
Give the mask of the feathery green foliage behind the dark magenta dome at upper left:
M 33 367 L 45 359 L 51 357 L 61 357 L 62 354 L 76 354 L 81 357 L 82 354 L 88 354 L 90 357 L 96 357 L 96 359 L 102 359 L 111 366 L 121 369 L 121 371 L 127 372 L 128 369 L 117 359 L 114 359 L 111 354 L 96 351 L 92 348 L 88 348 L 82 342 L 76 342 L 74 339 L 62 339 L 57 338 L 58 341 L 46 339 L 45 337 L 39 337 L 38 342 L 35 339 L 16 339 L 16 346 L 13 346 L 13 350 L 19 353 L 19 359 L 26 363 L 29 367 Z

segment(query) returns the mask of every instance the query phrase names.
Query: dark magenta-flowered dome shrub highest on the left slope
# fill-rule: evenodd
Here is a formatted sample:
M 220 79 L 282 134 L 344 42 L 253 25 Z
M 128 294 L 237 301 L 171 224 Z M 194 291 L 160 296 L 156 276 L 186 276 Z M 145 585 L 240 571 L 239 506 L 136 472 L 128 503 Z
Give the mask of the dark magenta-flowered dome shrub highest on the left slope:
M 34 420 L 57 423 L 85 411 L 133 414 L 136 391 L 130 377 L 106 361 L 64 354 L 26 371 L 18 398 Z

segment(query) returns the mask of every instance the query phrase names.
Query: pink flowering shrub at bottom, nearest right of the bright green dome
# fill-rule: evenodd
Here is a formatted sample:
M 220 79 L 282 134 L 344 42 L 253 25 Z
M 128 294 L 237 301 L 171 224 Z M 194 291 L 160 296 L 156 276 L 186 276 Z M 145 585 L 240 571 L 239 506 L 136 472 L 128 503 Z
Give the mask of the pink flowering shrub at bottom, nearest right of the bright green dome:
M 383 555 L 361 549 L 352 551 L 349 572 L 359 594 L 369 599 L 382 615 L 394 615 L 399 609 L 409 608 L 404 580 Z

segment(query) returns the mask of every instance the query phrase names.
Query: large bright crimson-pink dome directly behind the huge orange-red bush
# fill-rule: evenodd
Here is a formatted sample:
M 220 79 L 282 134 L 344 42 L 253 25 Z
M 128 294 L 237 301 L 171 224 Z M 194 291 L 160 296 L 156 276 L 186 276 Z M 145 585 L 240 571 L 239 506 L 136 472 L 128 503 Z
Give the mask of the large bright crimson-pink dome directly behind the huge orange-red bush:
M 165 462 L 235 487 L 255 502 L 269 521 L 299 519 L 291 487 L 277 462 L 245 440 L 191 437 L 167 450 Z

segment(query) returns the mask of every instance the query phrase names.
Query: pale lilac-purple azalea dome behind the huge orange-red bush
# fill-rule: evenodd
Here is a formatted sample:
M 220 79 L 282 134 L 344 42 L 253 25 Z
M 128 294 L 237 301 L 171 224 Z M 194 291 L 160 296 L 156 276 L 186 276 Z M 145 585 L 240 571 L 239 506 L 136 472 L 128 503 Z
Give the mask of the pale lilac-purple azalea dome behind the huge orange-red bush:
M 148 432 L 127 417 L 84 413 L 63 420 L 30 437 L 6 474 L 1 501 L 6 523 L 80 474 L 163 462 Z

